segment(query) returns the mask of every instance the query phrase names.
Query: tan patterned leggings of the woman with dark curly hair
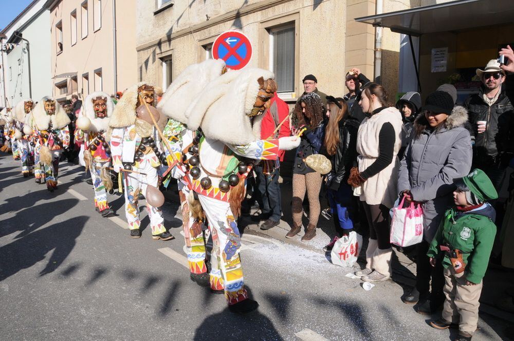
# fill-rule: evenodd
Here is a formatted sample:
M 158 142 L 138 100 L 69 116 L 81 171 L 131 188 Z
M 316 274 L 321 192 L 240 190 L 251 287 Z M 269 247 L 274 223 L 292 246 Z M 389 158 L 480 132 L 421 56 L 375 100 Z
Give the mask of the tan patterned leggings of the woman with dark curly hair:
M 309 225 L 316 226 L 320 215 L 321 175 L 319 173 L 292 175 L 292 221 L 302 224 L 303 198 L 305 192 L 309 198 Z

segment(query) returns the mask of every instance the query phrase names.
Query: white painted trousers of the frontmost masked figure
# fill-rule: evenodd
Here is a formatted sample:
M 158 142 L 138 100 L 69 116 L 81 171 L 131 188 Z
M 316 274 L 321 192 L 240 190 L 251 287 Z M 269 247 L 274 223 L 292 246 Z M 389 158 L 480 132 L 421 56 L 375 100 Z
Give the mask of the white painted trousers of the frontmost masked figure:
M 237 228 L 237 220 L 228 202 L 203 195 L 198 195 L 198 199 L 205 211 L 212 235 L 211 288 L 224 289 L 228 304 L 234 305 L 248 298 L 239 257 L 241 234 Z

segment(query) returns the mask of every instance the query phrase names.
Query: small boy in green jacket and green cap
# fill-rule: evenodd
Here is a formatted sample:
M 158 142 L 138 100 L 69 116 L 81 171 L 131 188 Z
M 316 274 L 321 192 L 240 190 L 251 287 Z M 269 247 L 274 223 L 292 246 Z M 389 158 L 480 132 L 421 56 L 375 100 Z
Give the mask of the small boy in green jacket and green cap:
M 432 266 L 442 261 L 445 268 L 443 317 L 430 325 L 436 329 L 458 325 L 456 340 L 470 340 L 479 319 L 482 278 L 496 235 L 496 212 L 487 201 L 497 199 L 498 193 L 481 169 L 454 184 L 456 207 L 446 211 L 427 252 Z

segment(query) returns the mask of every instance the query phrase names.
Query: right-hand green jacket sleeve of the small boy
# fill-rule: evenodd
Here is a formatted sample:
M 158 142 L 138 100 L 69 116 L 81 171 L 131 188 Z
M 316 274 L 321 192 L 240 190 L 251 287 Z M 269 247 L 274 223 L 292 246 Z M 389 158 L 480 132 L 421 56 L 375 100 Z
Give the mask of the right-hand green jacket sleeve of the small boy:
M 485 219 L 483 219 L 485 220 Z M 492 244 L 496 235 L 496 225 L 493 222 L 480 225 L 478 229 L 474 229 L 475 238 L 473 240 L 473 252 L 466 267 L 466 279 L 475 284 L 480 283 L 484 278 L 489 257 L 491 256 Z

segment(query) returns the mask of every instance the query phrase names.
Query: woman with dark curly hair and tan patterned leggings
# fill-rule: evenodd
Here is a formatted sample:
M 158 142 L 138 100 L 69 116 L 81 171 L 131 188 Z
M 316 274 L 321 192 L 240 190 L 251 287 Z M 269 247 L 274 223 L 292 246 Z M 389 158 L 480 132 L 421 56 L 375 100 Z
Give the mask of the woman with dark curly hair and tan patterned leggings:
M 295 237 L 302 230 L 303 198 L 305 192 L 309 198 L 309 224 L 302 241 L 309 241 L 316 236 L 316 226 L 320 214 L 319 193 L 321 174 L 305 163 L 309 155 L 319 154 L 325 135 L 325 108 L 317 93 L 304 94 L 295 105 L 298 119 L 296 127 L 291 127 L 292 134 L 301 135 L 300 146 L 296 151 L 292 175 L 292 228 L 286 238 Z

